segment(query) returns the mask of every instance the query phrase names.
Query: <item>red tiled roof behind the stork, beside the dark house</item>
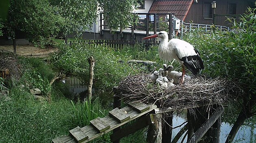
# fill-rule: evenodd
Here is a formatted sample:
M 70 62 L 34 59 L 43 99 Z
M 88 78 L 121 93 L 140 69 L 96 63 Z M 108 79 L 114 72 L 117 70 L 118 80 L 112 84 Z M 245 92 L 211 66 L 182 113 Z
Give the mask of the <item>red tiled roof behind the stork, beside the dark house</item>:
M 167 0 L 154 1 L 148 13 L 175 13 L 175 16 L 184 20 L 194 0 Z

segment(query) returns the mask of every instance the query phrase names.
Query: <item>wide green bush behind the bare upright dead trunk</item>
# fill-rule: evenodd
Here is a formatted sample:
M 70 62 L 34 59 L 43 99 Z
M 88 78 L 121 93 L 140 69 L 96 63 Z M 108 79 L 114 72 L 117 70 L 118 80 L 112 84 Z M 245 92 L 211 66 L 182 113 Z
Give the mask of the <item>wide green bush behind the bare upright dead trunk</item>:
M 134 70 L 127 61 L 130 55 L 120 54 L 114 49 L 102 45 L 75 43 L 63 46 L 60 52 L 52 57 L 53 64 L 66 75 L 74 75 L 87 85 L 89 81 L 88 58 L 95 59 L 93 86 L 106 90 L 117 86 L 122 78 L 140 71 Z M 136 68 L 136 67 L 135 67 Z

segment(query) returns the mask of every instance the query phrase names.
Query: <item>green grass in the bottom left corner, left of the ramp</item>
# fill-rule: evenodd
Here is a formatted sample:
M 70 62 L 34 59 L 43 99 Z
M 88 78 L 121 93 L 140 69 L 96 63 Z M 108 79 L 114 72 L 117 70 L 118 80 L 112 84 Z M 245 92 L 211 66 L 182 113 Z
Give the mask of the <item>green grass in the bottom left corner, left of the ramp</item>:
M 76 127 L 67 99 L 39 102 L 24 88 L 13 88 L 10 97 L 0 101 L 1 143 L 50 143 Z

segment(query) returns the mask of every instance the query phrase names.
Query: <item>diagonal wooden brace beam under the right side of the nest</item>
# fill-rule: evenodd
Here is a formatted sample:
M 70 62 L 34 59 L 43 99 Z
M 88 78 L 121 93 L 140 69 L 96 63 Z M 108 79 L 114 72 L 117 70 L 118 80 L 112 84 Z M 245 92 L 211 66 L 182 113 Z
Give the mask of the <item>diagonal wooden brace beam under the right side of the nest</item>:
M 204 134 L 209 130 L 211 126 L 215 123 L 215 121 L 221 116 L 223 113 L 223 108 L 219 107 L 216 109 L 216 111 L 213 113 L 213 115 L 202 124 L 202 126 L 194 133 L 194 135 L 191 137 L 189 142 L 187 143 L 197 143 L 203 136 Z

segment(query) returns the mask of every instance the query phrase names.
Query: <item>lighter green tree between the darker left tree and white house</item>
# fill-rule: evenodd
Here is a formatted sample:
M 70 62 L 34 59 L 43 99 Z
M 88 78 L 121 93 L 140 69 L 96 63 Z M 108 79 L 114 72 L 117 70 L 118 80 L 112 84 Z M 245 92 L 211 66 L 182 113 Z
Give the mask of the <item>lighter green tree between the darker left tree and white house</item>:
M 75 32 L 82 35 L 90 29 L 98 16 L 97 0 L 51 0 L 53 6 L 60 8 L 59 15 L 66 19 L 64 34 Z

